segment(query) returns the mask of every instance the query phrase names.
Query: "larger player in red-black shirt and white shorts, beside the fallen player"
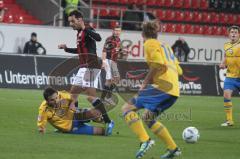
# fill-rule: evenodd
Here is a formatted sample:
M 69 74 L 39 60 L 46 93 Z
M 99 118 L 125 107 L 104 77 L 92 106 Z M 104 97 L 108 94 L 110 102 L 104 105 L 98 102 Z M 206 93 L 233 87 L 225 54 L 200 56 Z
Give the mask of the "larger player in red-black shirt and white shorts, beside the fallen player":
M 78 54 L 80 62 L 80 68 L 70 92 L 77 98 L 79 93 L 86 91 L 88 101 L 103 114 L 103 120 L 108 125 L 106 131 L 111 133 L 112 131 L 109 129 L 113 128 L 114 122 L 110 120 L 101 100 L 96 97 L 98 77 L 101 72 L 101 65 L 96 53 L 96 41 L 101 41 L 101 36 L 90 26 L 85 26 L 82 13 L 77 10 L 69 14 L 68 21 L 73 30 L 78 32 L 77 48 L 68 48 L 66 44 L 61 44 L 58 48 L 64 49 L 68 53 Z

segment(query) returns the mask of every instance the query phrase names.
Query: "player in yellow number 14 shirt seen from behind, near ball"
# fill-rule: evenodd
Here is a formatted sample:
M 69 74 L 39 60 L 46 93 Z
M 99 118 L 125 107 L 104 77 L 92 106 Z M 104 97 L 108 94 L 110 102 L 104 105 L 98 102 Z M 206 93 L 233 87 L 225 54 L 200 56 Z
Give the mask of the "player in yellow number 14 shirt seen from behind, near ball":
M 142 120 L 166 144 L 168 151 L 161 158 L 172 158 L 181 154 L 168 129 L 156 120 L 160 113 L 176 102 L 179 96 L 178 76 L 182 74 L 171 47 L 157 40 L 158 31 L 159 24 L 156 21 L 143 24 L 144 52 L 149 72 L 138 96 L 132 98 L 122 108 L 126 123 L 141 142 L 136 158 L 143 157 L 154 144 Z M 139 109 L 145 109 L 142 118 L 136 113 Z

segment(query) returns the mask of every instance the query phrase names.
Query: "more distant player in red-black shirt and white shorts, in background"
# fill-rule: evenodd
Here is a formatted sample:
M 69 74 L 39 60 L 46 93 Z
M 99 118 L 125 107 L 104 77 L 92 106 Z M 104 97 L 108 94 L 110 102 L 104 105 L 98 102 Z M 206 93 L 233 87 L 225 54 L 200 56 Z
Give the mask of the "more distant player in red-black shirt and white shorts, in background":
M 102 52 L 102 69 L 106 71 L 106 82 L 102 99 L 110 101 L 111 92 L 116 87 L 116 83 L 120 80 L 120 75 L 117 68 L 117 59 L 121 50 L 121 27 L 113 28 L 112 35 L 105 41 Z

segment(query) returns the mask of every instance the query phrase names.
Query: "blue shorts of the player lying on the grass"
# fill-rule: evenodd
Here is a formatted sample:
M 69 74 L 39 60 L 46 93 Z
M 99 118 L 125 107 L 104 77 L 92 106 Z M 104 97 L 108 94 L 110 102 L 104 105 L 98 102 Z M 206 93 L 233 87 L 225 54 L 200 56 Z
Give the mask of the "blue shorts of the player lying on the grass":
M 73 120 L 72 122 L 72 130 L 69 132 L 70 134 L 84 134 L 84 135 L 93 135 L 94 127 L 88 124 L 85 124 L 78 120 Z

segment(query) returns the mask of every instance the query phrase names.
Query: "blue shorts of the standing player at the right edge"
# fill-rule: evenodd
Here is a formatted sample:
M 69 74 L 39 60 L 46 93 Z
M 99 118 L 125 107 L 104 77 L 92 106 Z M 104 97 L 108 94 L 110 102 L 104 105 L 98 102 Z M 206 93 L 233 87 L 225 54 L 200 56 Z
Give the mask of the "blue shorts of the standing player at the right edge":
M 240 91 L 240 78 L 226 77 L 224 80 L 224 90 L 238 90 Z

